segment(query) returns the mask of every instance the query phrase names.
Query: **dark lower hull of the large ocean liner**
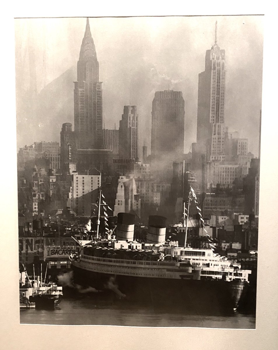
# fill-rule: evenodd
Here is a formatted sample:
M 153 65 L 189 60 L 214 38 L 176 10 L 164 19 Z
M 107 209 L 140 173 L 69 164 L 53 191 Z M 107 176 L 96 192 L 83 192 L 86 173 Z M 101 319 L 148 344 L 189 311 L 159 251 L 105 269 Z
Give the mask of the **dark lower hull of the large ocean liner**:
M 113 300 L 178 308 L 187 314 L 233 315 L 244 282 L 125 276 L 92 272 L 72 265 L 74 283 L 99 290 Z

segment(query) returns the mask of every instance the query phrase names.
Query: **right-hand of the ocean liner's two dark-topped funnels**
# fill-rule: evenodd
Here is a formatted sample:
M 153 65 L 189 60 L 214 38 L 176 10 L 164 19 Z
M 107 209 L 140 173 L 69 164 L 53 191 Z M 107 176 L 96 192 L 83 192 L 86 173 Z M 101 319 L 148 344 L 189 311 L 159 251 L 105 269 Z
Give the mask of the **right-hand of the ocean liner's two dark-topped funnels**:
M 166 220 L 164 216 L 149 216 L 147 243 L 163 244 L 165 242 Z

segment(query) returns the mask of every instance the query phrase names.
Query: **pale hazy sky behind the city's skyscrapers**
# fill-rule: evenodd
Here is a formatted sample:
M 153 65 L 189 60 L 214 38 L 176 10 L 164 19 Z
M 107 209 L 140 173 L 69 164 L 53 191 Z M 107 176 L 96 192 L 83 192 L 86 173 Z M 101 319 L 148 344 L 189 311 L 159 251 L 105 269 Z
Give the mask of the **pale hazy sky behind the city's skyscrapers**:
M 190 151 L 196 141 L 198 74 L 204 70 L 206 50 L 214 43 L 216 20 L 217 43 L 226 54 L 225 124 L 229 131 L 248 138 L 249 151 L 258 156 L 263 16 L 90 18 L 103 82 L 105 128 L 115 124 L 118 128 L 124 105 L 136 105 L 139 147 L 147 145 L 150 152 L 155 91 L 182 91 L 185 153 Z M 73 124 L 73 81 L 85 25 L 86 18 L 15 19 L 18 147 L 34 141 L 59 141 L 62 123 Z M 49 94 L 43 92 L 69 69 L 73 79 L 67 83 L 68 90 L 59 94 L 60 99 L 69 101 L 63 107 L 64 116 L 60 113 L 57 117 L 60 128 L 48 111 L 40 132 L 42 116 L 29 108 L 30 90 L 44 96 L 44 103 L 51 104 L 55 115 L 55 99 L 48 101 Z M 23 115 L 28 128 L 22 123 Z

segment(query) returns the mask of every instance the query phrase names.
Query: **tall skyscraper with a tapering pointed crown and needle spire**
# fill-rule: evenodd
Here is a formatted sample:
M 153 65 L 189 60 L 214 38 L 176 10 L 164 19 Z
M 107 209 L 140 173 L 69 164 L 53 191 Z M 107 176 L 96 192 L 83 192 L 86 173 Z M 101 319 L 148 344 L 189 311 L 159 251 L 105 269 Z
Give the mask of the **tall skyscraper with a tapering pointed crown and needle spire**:
M 87 18 L 74 83 L 74 130 L 78 148 L 102 148 L 102 83 Z

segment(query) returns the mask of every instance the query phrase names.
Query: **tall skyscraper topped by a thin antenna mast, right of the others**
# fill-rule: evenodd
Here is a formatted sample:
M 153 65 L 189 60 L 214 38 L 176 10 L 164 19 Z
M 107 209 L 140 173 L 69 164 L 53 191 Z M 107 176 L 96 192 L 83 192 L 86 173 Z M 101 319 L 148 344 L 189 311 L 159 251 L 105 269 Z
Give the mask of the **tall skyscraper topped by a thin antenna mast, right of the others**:
M 215 41 L 206 52 L 205 70 L 199 74 L 197 109 L 197 153 L 205 161 L 222 160 L 224 156 L 225 50 Z

